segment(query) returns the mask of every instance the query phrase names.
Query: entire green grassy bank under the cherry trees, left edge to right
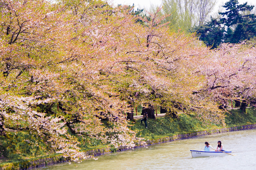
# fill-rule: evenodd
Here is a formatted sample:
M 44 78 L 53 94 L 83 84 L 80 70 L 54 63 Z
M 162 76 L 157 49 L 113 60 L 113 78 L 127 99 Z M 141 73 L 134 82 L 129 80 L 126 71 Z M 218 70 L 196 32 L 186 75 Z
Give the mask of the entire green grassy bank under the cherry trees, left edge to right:
M 226 115 L 227 127 L 256 124 L 255 108 L 247 108 L 246 113 L 242 113 L 239 109 L 231 110 Z M 131 124 L 134 124 L 131 129 L 138 131 L 138 137 L 149 140 L 223 128 L 215 124 L 203 125 L 202 122 L 188 115 L 181 115 L 179 118 L 159 117 L 156 120 L 149 119 L 147 129 L 145 129 L 144 122 L 141 124 L 140 120 L 131 122 Z M 27 139 L 29 139 L 29 142 Z M 79 140 L 83 151 L 106 147 L 106 145 L 100 145 L 100 141 L 97 140 L 90 142 L 86 138 L 79 138 Z M 47 158 L 54 154 L 46 139 L 36 138 L 28 131 L 7 132 L 7 137 L 0 137 L 0 141 L 0 167 L 6 163 L 20 164 L 19 162 L 25 160 Z

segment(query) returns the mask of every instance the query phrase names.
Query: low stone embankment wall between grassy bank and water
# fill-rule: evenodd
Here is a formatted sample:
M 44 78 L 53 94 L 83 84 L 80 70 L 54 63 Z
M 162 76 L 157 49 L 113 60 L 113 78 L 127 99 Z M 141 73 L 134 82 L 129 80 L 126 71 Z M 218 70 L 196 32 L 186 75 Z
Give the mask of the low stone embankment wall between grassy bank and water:
M 212 135 L 217 133 L 231 132 L 231 131 L 238 131 L 238 130 L 247 130 L 247 129 L 256 129 L 256 124 L 236 126 L 232 128 L 204 130 L 204 131 L 188 133 L 188 134 L 179 134 L 179 135 L 173 135 L 170 137 L 152 139 L 146 142 L 147 142 L 147 145 L 160 144 L 165 142 L 171 142 L 174 140 L 188 139 L 192 137 L 199 137 L 199 136 Z M 135 148 L 138 148 L 138 147 L 142 147 L 142 145 L 137 145 Z M 120 146 L 116 149 L 117 152 L 125 151 L 125 150 L 128 150 L 128 149 L 124 146 Z M 100 149 L 93 149 L 93 150 L 87 151 L 85 154 L 87 156 L 89 155 L 99 156 L 99 155 L 103 155 L 111 152 L 112 152 L 111 148 L 106 147 L 106 148 L 100 148 Z M 0 167 L 0 170 L 26 170 L 26 169 L 32 169 L 35 167 L 42 167 L 46 165 L 52 165 L 52 164 L 68 162 L 68 161 L 69 159 L 63 158 L 62 156 L 49 156 L 49 157 L 38 158 L 34 160 L 20 161 L 18 163 L 6 163 L 4 164 L 4 166 Z

